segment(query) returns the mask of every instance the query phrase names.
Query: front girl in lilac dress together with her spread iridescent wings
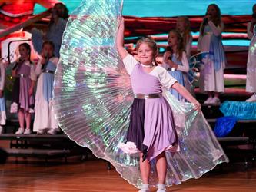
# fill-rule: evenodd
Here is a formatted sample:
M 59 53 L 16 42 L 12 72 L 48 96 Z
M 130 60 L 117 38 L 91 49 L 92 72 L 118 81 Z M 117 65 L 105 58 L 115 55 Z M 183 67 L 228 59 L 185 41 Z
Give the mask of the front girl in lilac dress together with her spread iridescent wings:
M 125 51 L 121 7 L 119 0 L 84 1 L 68 20 L 55 73 L 55 117 L 71 140 L 109 161 L 130 184 L 165 191 L 228 158 L 198 101 L 155 65 L 155 41 L 138 41 L 138 61 Z

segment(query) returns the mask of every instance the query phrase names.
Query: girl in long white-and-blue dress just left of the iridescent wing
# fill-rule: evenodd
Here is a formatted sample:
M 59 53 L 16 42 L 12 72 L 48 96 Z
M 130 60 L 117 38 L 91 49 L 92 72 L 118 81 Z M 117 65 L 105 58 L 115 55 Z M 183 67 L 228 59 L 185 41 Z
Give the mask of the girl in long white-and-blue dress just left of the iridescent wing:
M 54 44 L 52 41 L 45 41 L 42 46 L 42 57 L 35 68 L 35 74 L 39 75 L 39 78 L 35 94 L 33 131 L 38 134 L 55 134 L 58 131 L 58 124 L 50 106 L 55 69 L 58 63 L 58 58 L 53 52 Z

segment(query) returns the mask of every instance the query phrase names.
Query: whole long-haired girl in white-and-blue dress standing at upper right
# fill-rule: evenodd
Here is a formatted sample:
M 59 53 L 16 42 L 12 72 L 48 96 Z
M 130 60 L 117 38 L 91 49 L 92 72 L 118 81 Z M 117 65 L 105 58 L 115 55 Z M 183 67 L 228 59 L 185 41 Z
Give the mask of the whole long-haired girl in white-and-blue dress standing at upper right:
M 224 92 L 225 56 L 221 42 L 221 10 L 218 5 L 208 5 L 206 15 L 201 23 L 198 39 L 198 51 L 209 51 L 200 72 L 200 89 L 208 92 L 205 104 L 220 103 L 219 94 Z

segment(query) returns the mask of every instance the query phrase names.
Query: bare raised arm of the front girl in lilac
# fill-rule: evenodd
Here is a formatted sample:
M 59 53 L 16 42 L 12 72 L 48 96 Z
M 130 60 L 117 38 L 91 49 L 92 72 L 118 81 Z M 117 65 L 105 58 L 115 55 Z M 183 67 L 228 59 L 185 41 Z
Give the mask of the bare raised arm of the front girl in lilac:
M 120 25 L 118 27 L 118 33 L 116 37 L 116 47 L 118 48 L 118 54 L 121 59 L 124 59 L 128 55 L 128 51 L 126 51 L 124 47 L 124 32 L 125 32 L 125 19 L 121 18 Z

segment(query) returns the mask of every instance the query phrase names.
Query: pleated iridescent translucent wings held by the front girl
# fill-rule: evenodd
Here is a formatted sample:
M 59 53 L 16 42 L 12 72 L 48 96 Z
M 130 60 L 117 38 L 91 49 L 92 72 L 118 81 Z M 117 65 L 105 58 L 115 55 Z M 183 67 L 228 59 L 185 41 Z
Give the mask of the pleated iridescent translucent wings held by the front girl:
M 109 161 L 135 187 L 141 187 L 139 156 L 126 154 L 125 143 L 133 101 L 130 78 L 115 48 L 120 0 L 83 1 L 68 20 L 55 73 L 53 109 L 59 126 L 95 156 Z M 166 184 L 201 177 L 228 162 L 214 133 L 193 104 L 181 104 L 168 91 L 180 151 L 166 151 Z M 149 183 L 156 186 L 155 159 Z

